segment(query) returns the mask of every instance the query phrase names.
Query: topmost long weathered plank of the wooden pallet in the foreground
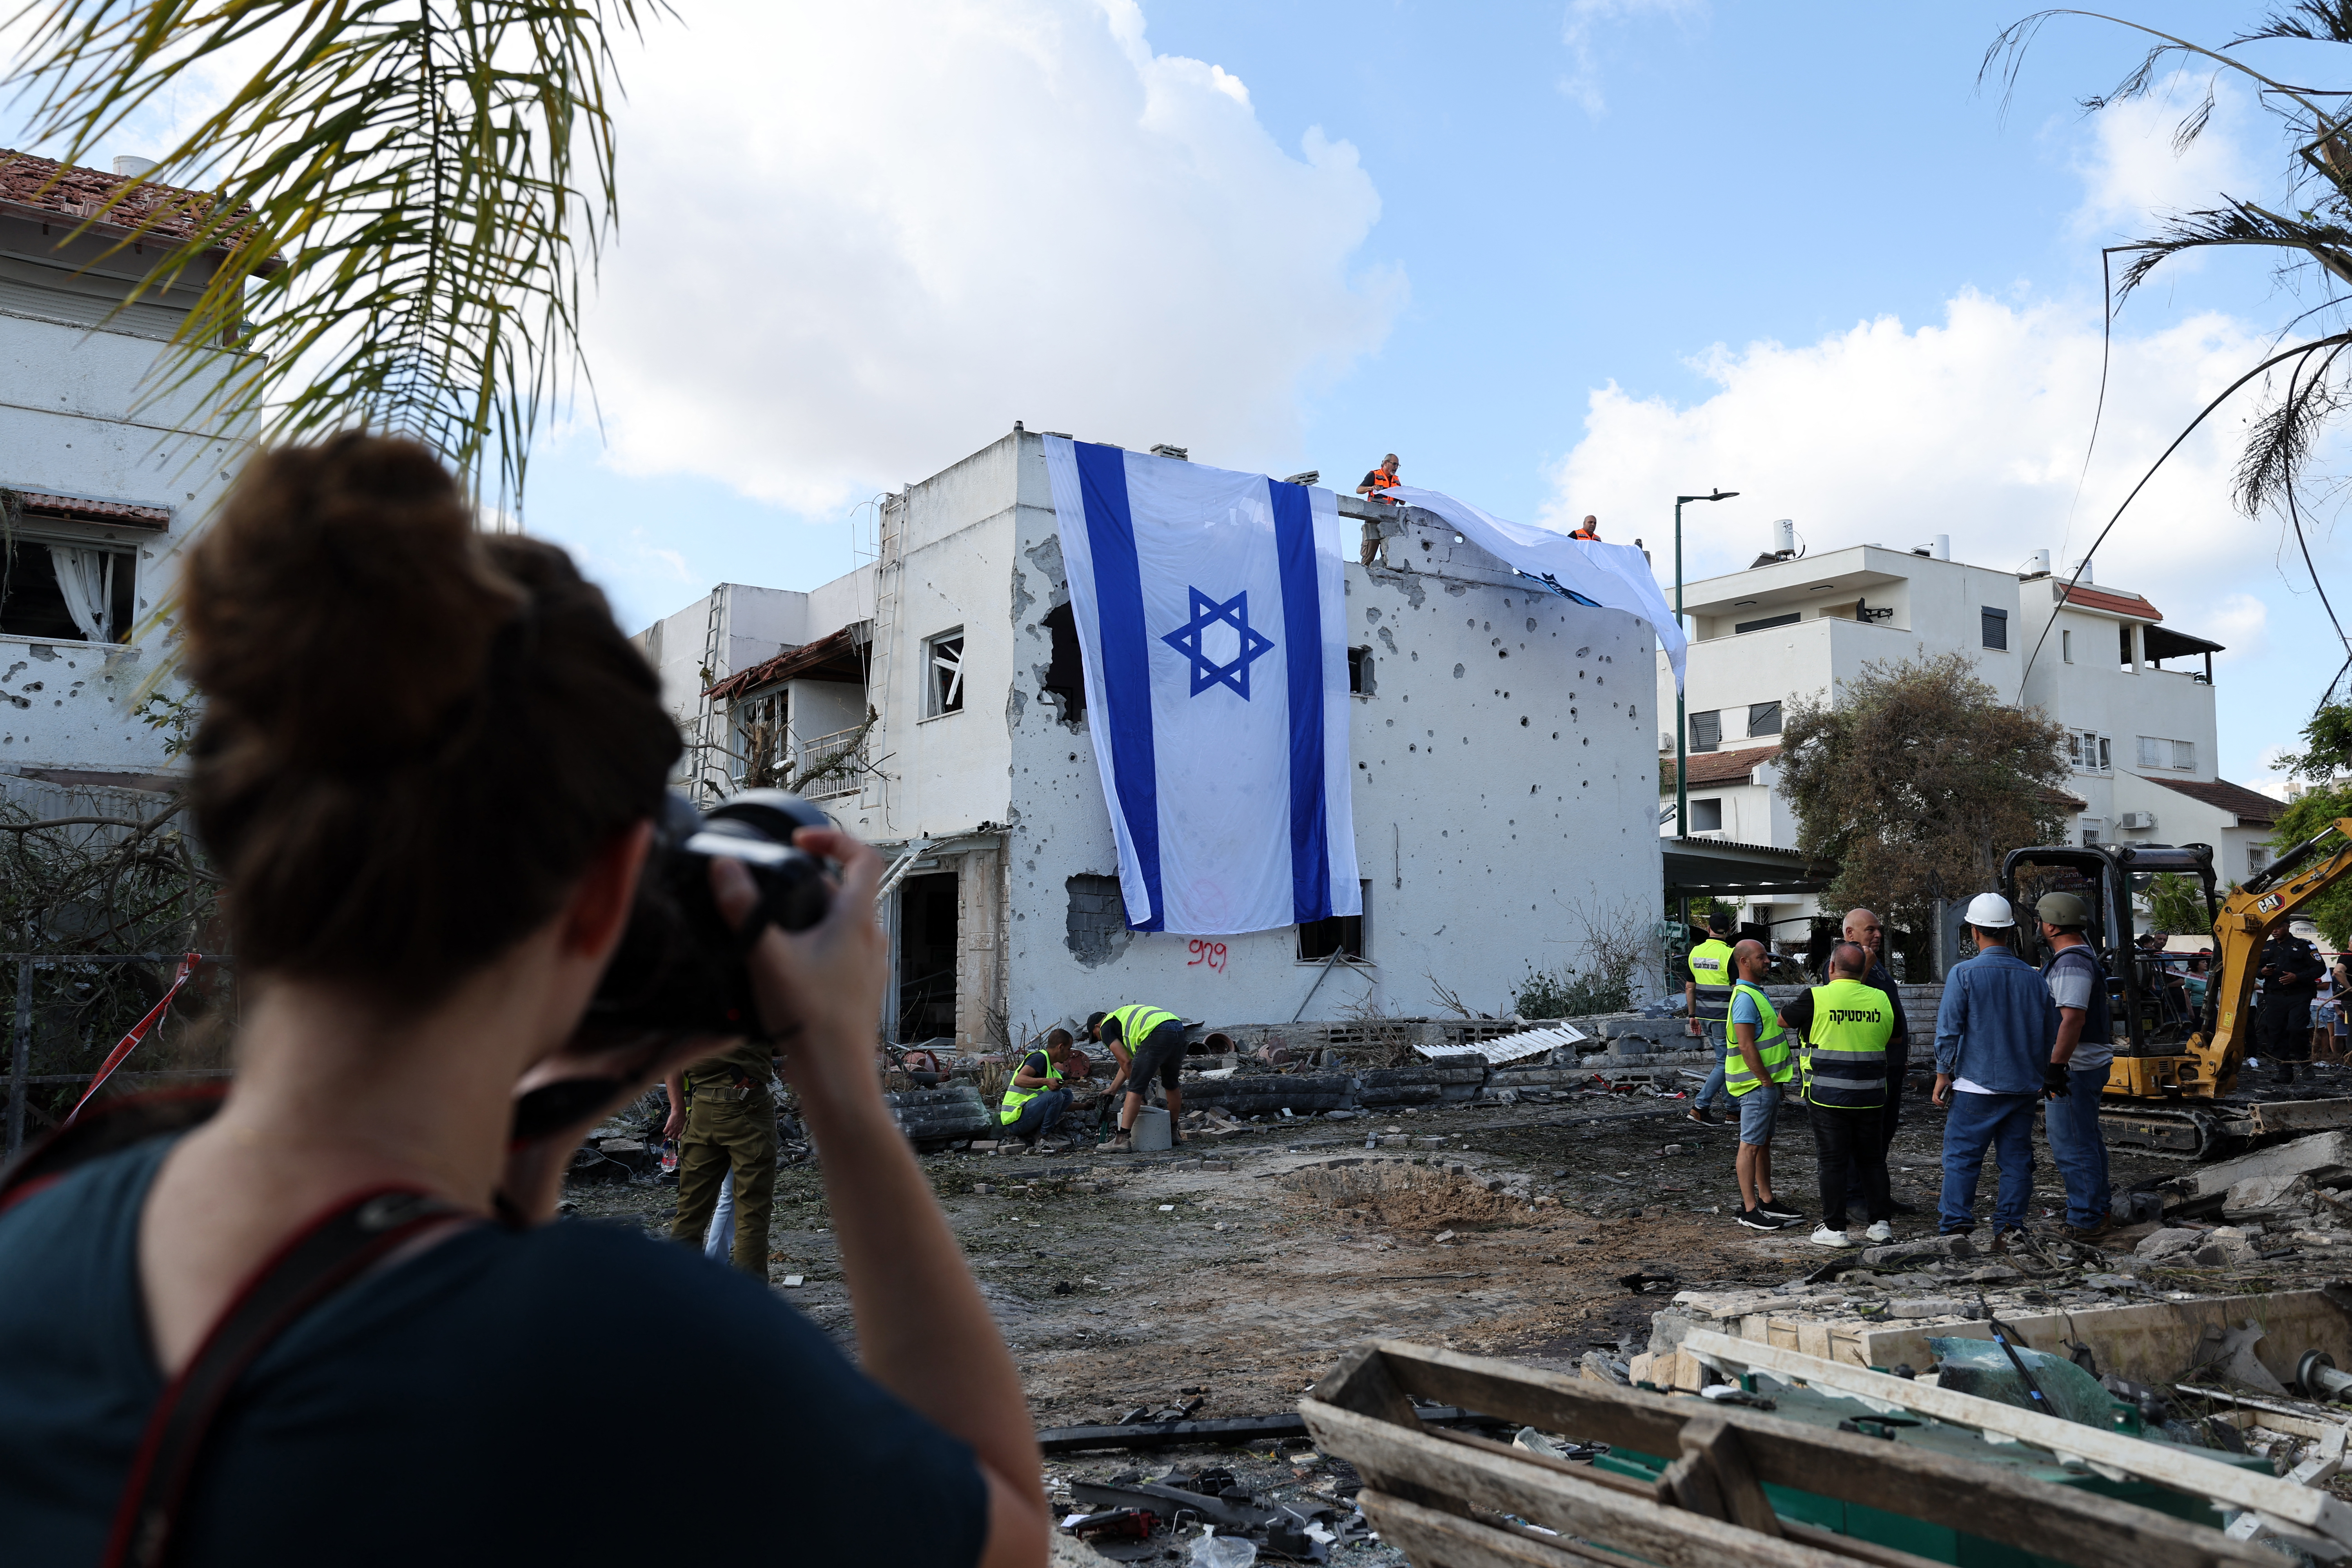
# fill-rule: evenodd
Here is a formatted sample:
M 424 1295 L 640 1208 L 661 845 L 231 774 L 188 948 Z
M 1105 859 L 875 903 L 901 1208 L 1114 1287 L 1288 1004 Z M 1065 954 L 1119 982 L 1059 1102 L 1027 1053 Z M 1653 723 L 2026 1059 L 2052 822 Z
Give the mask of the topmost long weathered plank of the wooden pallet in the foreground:
M 1745 1340 L 1731 1342 L 1748 1354 L 1783 1354 Z M 1378 1352 L 1406 1394 L 1613 1448 L 1679 1453 L 1682 1425 L 1712 1413 L 1740 1429 L 1748 1462 L 1766 1486 L 1860 1502 L 2070 1563 L 2277 1568 L 2277 1554 L 2232 1542 L 2216 1528 L 2072 1486 L 2034 1481 L 1999 1465 L 1969 1467 L 1966 1486 L 1959 1486 L 1952 1460 L 1905 1443 L 1698 1399 L 1581 1382 L 1515 1361 L 1463 1356 L 1399 1340 L 1381 1342 Z M 1900 1380 L 1889 1378 L 1889 1382 Z

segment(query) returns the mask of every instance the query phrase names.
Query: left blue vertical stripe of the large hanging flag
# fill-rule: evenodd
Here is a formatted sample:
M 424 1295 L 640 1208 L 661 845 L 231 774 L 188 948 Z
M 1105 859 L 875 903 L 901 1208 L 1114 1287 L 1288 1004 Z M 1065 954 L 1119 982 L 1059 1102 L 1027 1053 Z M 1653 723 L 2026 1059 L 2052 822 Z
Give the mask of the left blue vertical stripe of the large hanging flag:
M 1152 755 L 1152 668 L 1143 625 L 1143 567 L 1136 562 L 1136 517 L 1127 505 L 1127 454 L 1117 447 L 1070 442 L 1077 487 L 1087 503 L 1087 545 L 1094 550 L 1094 616 L 1103 644 L 1103 724 L 1110 726 L 1110 769 L 1120 780 L 1120 816 L 1136 846 L 1136 865 L 1152 900 L 1150 919 L 1134 931 L 1164 931 L 1160 896 L 1160 759 Z M 1305 489 L 1298 489 L 1305 496 Z M 1310 557 L 1312 564 L 1312 557 Z

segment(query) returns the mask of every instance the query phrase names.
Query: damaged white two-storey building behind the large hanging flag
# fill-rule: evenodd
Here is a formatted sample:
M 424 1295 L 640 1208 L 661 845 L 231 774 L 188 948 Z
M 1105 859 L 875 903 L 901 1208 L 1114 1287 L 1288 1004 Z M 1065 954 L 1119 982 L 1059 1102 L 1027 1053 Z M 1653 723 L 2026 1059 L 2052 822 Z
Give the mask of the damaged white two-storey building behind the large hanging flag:
M 640 646 L 715 790 L 795 788 L 915 851 L 884 907 L 894 1039 L 981 1051 L 1127 1001 L 1207 1023 L 1510 1011 L 1595 931 L 1656 926 L 1656 637 L 1428 512 L 1341 510 L 1376 536 L 1345 569 L 1362 917 L 1129 931 L 1037 433 L 889 496 L 875 564 L 814 592 L 720 585 Z

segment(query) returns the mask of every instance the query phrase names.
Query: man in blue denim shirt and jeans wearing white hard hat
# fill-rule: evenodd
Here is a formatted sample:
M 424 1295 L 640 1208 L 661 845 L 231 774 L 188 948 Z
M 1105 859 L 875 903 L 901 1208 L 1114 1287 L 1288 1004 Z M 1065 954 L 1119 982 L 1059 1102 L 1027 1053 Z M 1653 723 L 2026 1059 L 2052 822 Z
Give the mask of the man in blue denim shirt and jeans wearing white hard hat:
M 1994 1251 L 2025 1229 L 2025 1206 L 2034 1194 L 2034 1105 L 2044 1093 L 2065 1093 L 2065 1067 L 2051 1084 L 2058 1009 L 2042 973 L 2009 950 L 2016 924 L 1999 893 L 1969 900 L 1978 952 L 1952 966 L 1936 1009 L 1936 1105 L 1950 1110 L 1943 1121 L 1938 1229 L 1976 1229 L 1976 1178 L 1990 1147 L 2002 1168 L 1992 1211 Z

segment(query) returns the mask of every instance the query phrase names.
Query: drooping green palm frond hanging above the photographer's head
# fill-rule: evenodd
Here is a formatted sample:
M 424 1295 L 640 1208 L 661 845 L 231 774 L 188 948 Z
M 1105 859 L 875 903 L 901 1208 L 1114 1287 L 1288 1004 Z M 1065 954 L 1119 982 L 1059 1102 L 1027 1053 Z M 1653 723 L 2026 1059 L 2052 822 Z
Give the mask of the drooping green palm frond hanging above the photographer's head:
M 191 71 L 219 106 L 94 223 L 195 287 L 172 371 L 263 440 L 414 435 L 520 503 L 616 219 L 612 40 L 663 0 L 26 0 L 12 85 L 85 160 Z M 245 350 L 221 381 L 219 346 Z

